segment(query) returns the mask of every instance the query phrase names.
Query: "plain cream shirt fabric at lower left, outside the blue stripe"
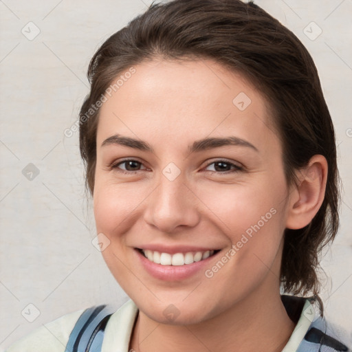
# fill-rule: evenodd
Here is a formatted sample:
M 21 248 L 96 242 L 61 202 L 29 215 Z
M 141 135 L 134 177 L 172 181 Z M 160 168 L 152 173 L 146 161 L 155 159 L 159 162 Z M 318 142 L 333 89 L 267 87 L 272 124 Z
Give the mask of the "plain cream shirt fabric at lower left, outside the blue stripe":
M 42 325 L 12 344 L 5 352 L 65 352 L 69 334 L 83 311 L 85 309 L 74 311 Z

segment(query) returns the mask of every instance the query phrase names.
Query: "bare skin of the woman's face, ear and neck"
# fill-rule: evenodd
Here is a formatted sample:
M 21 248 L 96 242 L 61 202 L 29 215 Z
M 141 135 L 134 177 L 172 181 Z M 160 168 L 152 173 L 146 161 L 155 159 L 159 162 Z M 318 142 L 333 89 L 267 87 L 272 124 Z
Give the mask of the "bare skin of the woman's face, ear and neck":
M 140 309 L 129 347 L 281 351 L 295 326 L 279 292 L 283 232 L 302 228 L 318 212 L 325 158 L 315 155 L 297 173 L 299 185 L 288 187 L 270 107 L 241 75 L 211 60 L 155 58 L 135 69 L 100 109 L 94 184 L 96 227 L 110 241 L 104 260 Z M 243 111 L 232 103 L 241 92 L 251 100 Z M 102 146 L 115 133 L 147 142 L 153 153 Z M 195 140 L 230 135 L 257 151 L 230 145 L 188 152 Z M 118 164 L 126 157 L 140 164 Z M 221 168 L 221 159 L 243 170 Z M 162 173 L 170 162 L 181 171 L 173 181 Z M 211 278 L 200 270 L 181 281 L 162 281 L 136 260 L 134 248 L 164 243 L 220 249 L 218 261 L 271 208 L 271 219 Z M 206 269 L 217 261 L 210 259 Z M 179 314 L 173 321 L 163 313 L 170 304 Z

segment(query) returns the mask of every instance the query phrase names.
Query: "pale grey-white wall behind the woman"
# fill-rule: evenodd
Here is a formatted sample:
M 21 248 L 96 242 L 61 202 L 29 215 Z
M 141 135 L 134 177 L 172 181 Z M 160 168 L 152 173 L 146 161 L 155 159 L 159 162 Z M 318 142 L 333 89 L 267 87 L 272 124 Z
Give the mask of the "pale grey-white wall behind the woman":
M 322 297 L 328 318 L 352 340 L 352 1 L 255 2 L 306 45 L 336 126 L 344 202 L 340 232 L 322 261 L 331 278 Z M 0 1 L 0 351 L 63 314 L 126 300 L 91 244 L 96 233 L 78 133 L 63 131 L 88 92 L 85 74 L 95 50 L 150 3 Z M 30 21 L 41 31 L 32 40 L 21 33 L 35 33 Z M 29 163 L 39 169 L 32 181 L 22 173 Z M 37 318 L 29 304 L 39 309 Z

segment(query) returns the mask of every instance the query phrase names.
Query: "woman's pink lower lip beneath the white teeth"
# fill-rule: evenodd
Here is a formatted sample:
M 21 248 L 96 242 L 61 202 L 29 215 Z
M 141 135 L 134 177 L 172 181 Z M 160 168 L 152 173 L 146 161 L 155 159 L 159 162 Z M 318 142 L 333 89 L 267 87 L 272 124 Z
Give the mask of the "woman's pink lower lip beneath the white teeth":
M 146 259 L 144 254 L 142 254 L 139 250 L 135 249 L 135 252 L 137 253 L 137 256 L 146 272 L 163 281 L 180 281 L 190 278 L 201 270 L 204 272 L 210 267 L 210 261 L 212 261 L 212 259 L 219 254 L 219 252 L 217 252 L 216 254 L 209 256 L 207 259 L 203 259 L 192 264 L 161 265 Z

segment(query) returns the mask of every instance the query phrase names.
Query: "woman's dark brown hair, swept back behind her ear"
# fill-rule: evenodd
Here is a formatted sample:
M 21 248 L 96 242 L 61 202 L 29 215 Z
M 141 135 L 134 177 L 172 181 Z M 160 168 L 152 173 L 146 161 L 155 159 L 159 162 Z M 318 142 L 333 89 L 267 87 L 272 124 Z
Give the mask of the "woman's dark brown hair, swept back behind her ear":
M 281 263 L 285 292 L 311 292 L 318 298 L 319 255 L 339 226 L 340 177 L 333 123 L 318 72 L 303 44 L 252 2 L 153 3 L 102 44 L 89 64 L 91 91 L 80 110 L 80 153 L 89 190 L 94 191 L 99 115 L 99 109 L 89 109 L 119 74 L 156 57 L 211 58 L 255 83 L 270 103 L 283 146 L 287 184 L 297 181 L 294 171 L 306 166 L 313 155 L 326 157 L 329 172 L 325 199 L 309 225 L 285 230 Z

